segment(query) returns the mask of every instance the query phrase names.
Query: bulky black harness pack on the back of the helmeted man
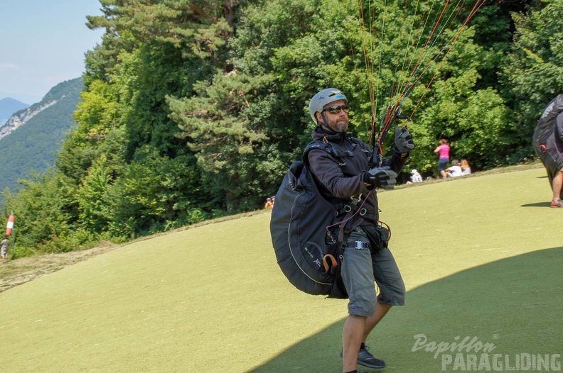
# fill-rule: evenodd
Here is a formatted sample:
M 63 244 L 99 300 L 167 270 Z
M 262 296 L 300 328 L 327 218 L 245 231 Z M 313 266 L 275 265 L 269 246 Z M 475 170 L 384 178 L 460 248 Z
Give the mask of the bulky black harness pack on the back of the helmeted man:
M 347 299 L 341 264 L 348 235 L 368 219 L 370 224 L 363 228 L 370 236 L 368 245 L 374 252 L 387 247 L 390 230 L 363 208 L 369 195 L 363 200 L 335 203 L 321 194 L 307 164 L 312 149 L 341 157 L 331 143 L 315 140 L 305 148 L 303 161 L 289 167 L 272 209 L 272 244 L 281 271 L 297 289 Z

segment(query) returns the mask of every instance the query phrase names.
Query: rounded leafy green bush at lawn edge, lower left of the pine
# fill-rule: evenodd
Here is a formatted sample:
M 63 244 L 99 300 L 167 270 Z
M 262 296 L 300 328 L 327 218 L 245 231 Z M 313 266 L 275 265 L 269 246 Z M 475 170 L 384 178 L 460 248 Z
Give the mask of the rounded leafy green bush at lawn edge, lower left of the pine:
M 144 147 L 102 196 L 107 231 L 131 238 L 208 218 L 199 207 L 205 196 L 196 187 L 198 177 L 191 156 L 170 159 Z

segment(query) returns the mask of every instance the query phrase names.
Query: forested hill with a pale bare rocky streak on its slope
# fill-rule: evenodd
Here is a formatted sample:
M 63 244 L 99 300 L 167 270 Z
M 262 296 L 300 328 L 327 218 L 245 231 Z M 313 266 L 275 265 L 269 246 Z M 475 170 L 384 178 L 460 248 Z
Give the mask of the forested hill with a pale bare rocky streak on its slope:
M 57 84 L 0 128 L 0 191 L 15 191 L 19 179 L 53 165 L 60 143 L 75 126 L 73 112 L 83 87 L 81 77 Z

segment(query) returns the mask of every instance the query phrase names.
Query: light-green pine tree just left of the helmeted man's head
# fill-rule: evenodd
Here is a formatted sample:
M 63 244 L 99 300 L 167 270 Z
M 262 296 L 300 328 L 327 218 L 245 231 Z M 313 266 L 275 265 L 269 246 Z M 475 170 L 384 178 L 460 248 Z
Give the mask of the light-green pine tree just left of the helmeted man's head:
M 205 193 L 225 211 L 247 211 L 260 198 L 263 179 L 258 167 L 267 160 L 262 149 L 267 143 L 265 122 L 254 115 L 261 110 L 254 102 L 264 93 L 269 79 L 235 72 L 216 74 L 213 84 L 200 82 L 191 99 L 168 99 L 171 118 L 178 121 L 182 137 L 195 152 L 205 172 Z M 280 167 L 281 168 L 281 167 Z

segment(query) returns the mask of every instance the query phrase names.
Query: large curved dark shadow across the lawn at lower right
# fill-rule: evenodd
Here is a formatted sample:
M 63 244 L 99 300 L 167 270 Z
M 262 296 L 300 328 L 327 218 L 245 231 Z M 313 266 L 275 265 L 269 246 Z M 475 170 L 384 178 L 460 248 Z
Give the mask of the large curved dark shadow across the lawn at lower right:
M 477 348 L 478 342 L 494 347 L 494 351 L 489 350 L 491 364 L 493 354 L 503 355 L 503 371 L 510 370 L 520 354 L 562 354 L 562 267 L 563 247 L 555 247 L 424 284 L 408 292 L 407 305 L 393 308 L 367 344 L 375 356 L 386 360 L 385 372 L 453 371 L 456 354 L 461 354 L 466 363 L 468 355 L 479 359 L 486 352 Z M 303 315 L 311 318 L 306 310 Z M 299 341 L 251 372 L 341 372 L 338 353 L 342 326 L 343 320 Z M 431 350 L 431 341 L 461 343 L 466 337 L 477 340 L 473 349 L 466 343 L 469 352 L 463 348 L 461 352 L 427 351 Z M 424 338 L 426 344 L 422 344 Z M 417 341 L 421 348 L 414 349 Z M 453 362 L 443 366 L 448 357 Z M 555 358 L 560 364 L 562 358 Z M 458 366 L 456 370 L 479 369 Z

